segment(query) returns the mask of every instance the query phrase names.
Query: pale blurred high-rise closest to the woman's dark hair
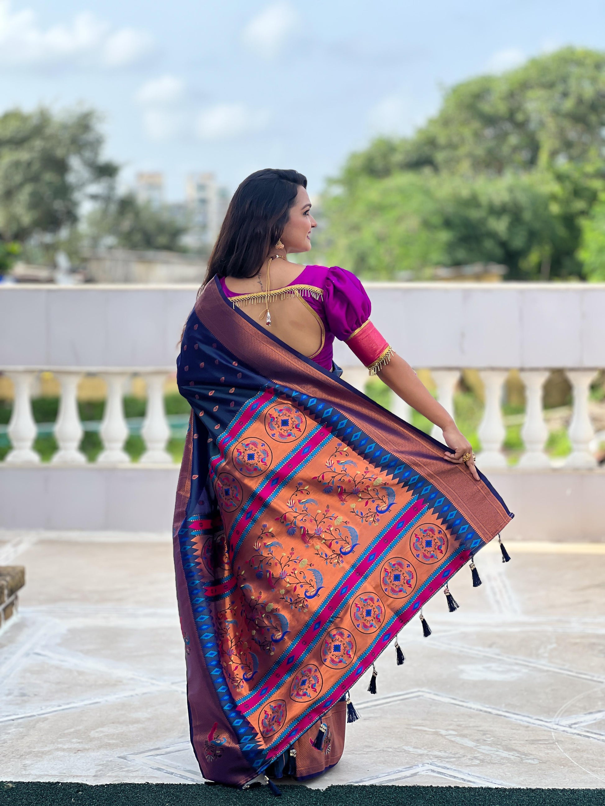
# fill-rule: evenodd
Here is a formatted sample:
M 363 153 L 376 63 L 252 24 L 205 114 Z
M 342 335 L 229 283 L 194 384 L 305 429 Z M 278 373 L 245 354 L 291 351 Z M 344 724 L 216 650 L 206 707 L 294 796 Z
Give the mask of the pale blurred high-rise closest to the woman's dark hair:
M 215 241 L 228 204 L 227 189 L 217 184 L 214 173 L 189 174 L 186 207 L 191 228 L 184 239 L 188 247 L 198 249 Z

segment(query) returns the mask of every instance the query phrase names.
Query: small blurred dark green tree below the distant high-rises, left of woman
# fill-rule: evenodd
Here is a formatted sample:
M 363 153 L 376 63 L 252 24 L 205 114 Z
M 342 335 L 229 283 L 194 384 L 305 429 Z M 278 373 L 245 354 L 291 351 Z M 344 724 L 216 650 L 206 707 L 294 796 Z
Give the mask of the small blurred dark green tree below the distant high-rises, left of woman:
M 139 202 L 133 193 L 112 197 L 86 218 L 85 239 L 91 247 L 181 250 L 186 224 L 165 207 Z

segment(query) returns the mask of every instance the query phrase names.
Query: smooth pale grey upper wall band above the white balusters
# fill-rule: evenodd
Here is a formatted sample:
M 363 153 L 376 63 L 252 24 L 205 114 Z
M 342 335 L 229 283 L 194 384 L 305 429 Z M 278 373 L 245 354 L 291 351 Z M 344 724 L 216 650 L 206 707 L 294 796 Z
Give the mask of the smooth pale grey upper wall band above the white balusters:
M 416 367 L 603 368 L 605 284 L 366 285 Z M 194 285 L 0 286 L 0 367 L 173 367 Z M 357 359 L 336 343 L 336 362 Z

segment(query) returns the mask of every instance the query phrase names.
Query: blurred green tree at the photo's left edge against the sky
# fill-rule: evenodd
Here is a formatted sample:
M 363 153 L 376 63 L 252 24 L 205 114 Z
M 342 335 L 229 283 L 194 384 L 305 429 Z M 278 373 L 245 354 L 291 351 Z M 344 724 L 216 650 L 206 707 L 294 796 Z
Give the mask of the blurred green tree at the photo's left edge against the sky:
M 65 234 L 86 198 L 111 188 L 118 166 L 103 160 L 98 116 L 15 109 L 0 115 L 0 239 Z

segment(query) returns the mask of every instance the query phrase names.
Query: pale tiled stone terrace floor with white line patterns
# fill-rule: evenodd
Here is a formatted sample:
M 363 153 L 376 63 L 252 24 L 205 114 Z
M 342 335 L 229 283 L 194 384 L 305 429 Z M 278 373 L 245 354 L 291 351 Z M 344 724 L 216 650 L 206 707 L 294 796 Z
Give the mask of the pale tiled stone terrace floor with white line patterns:
M 0 777 L 195 782 L 171 546 L 141 535 L 0 536 L 23 564 L 0 634 Z M 357 683 L 344 757 L 311 786 L 605 787 L 605 544 L 478 555 Z

